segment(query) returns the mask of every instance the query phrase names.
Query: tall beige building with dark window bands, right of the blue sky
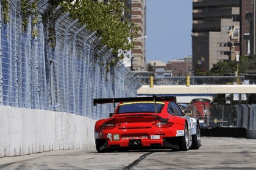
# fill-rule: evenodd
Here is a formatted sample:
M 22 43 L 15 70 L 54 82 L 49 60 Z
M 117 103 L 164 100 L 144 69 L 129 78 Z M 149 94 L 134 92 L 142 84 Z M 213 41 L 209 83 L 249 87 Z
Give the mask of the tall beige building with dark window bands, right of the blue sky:
M 241 33 L 246 33 L 240 32 L 240 13 L 244 15 L 240 10 L 245 10 L 240 9 L 241 4 L 240 0 L 193 0 L 194 72 L 205 72 L 218 61 L 235 60 L 235 55 L 240 54 Z

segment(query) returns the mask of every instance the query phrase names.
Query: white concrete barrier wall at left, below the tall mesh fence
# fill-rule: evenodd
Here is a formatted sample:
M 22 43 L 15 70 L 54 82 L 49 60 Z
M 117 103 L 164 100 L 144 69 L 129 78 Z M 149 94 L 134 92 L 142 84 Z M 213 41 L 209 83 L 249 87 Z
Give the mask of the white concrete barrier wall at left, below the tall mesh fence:
M 63 112 L 0 106 L 0 157 L 92 149 L 95 121 Z

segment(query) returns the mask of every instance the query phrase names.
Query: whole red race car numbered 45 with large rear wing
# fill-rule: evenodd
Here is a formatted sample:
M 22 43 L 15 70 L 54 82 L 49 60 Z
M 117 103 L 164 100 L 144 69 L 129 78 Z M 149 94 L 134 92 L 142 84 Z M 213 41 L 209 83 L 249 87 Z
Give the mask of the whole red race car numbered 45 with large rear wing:
M 94 127 L 96 150 L 174 149 L 201 146 L 199 122 L 183 114 L 176 97 L 97 98 L 94 106 L 119 103 Z

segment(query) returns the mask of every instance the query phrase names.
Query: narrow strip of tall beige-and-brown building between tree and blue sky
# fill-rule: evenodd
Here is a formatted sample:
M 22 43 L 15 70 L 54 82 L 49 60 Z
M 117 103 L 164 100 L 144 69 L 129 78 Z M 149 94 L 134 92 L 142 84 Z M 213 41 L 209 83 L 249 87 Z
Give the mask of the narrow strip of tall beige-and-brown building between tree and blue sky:
M 132 0 L 132 22 L 138 28 L 132 50 L 132 69 L 146 70 L 146 0 Z

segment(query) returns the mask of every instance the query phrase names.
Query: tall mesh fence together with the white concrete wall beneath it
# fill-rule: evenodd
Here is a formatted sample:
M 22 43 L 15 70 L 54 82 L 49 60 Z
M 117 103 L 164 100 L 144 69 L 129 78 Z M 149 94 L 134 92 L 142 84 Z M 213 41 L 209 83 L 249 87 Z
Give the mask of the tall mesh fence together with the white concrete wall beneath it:
M 21 1 L 8 2 L 8 22 L 0 3 L 0 157 L 93 148 L 95 121 L 113 110 L 93 98 L 135 97 L 137 75 L 118 61 L 107 70 L 112 50 L 61 7 L 38 1 L 24 24 Z

